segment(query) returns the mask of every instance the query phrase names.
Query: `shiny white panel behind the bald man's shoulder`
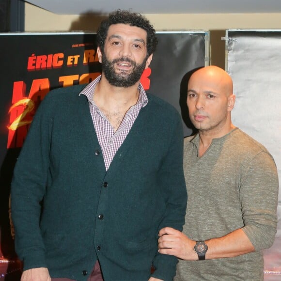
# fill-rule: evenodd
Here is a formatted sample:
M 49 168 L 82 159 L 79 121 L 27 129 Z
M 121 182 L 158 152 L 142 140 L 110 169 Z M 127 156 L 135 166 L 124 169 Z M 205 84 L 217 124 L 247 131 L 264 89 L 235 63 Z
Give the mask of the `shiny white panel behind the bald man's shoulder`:
M 226 45 L 233 123 L 269 150 L 281 179 L 281 31 L 227 31 Z M 281 185 L 278 218 L 274 246 L 265 250 L 265 273 L 274 275 L 281 274 Z

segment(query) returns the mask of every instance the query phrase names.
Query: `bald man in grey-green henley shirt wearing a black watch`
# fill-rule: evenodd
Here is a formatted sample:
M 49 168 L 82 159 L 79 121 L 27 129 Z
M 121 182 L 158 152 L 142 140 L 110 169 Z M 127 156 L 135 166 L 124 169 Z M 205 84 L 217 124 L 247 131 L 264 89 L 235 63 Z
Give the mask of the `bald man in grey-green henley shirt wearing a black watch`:
M 187 107 L 198 133 L 184 144 L 186 224 L 183 233 L 161 229 L 158 239 L 160 253 L 179 258 L 174 281 L 264 279 L 262 250 L 277 227 L 277 169 L 265 147 L 232 124 L 234 102 L 223 69 L 191 76 Z

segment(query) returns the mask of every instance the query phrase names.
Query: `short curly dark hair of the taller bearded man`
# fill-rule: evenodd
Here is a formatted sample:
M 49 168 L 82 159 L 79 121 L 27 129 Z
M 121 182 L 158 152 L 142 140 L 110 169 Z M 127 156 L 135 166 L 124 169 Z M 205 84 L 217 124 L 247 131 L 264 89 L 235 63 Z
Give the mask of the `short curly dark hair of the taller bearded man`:
M 109 26 L 112 24 L 124 23 L 130 26 L 140 27 L 147 33 L 147 57 L 153 54 L 157 46 L 157 37 L 153 25 L 147 18 L 139 13 L 133 13 L 128 10 L 116 10 L 109 14 L 108 18 L 103 20 L 97 31 L 97 46 L 104 50 L 105 40 L 108 35 Z

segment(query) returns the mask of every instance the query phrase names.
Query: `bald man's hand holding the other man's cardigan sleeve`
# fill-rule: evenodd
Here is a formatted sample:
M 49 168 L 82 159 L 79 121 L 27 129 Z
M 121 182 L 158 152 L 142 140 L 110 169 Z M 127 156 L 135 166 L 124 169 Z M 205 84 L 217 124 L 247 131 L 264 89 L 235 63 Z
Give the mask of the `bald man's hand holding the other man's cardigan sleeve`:
M 194 251 L 195 241 L 189 239 L 182 232 L 171 227 L 162 228 L 159 231 L 158 252 L 166 255 L 174 255 L 177 258 L 195 261 L 198 255 Z

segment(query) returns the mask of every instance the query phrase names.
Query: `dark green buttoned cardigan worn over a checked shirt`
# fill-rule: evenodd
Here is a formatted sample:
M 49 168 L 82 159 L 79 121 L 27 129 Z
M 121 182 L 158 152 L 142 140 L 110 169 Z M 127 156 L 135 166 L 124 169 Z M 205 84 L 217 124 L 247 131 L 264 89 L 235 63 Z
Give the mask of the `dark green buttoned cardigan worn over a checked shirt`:
M 177 259 L 157 234 L 184 224 L 181 118 L 148 94 L 106 171 L 84 87 L 51 91 L 31 124 L 12 182 L 18 256 L 53 278 L 86 281 L 98 258 L 105 281 L 148 280 L 151 264 L 170 281 Z

